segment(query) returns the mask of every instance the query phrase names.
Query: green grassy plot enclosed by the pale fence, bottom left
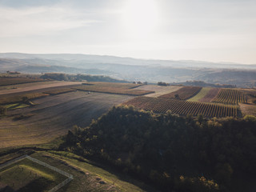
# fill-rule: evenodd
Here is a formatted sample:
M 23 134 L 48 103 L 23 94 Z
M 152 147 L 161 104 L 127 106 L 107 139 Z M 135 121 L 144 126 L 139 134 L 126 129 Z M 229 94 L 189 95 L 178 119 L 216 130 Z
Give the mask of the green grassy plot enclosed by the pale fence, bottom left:
M 0 170 L 1 185 L 15 191 L 48 191 L 65 179 L 62 174 L 28 159 Z

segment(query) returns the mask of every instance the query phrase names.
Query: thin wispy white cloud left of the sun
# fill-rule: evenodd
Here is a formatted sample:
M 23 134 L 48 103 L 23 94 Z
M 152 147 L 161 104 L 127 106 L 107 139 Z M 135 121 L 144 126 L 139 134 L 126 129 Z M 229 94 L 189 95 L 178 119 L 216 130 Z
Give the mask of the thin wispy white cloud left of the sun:
M 0 38 L 54 34 L 89 26 L 94 22 L 84 12 L 67 7 L 37 6 L 11 8 L 0 6 Z

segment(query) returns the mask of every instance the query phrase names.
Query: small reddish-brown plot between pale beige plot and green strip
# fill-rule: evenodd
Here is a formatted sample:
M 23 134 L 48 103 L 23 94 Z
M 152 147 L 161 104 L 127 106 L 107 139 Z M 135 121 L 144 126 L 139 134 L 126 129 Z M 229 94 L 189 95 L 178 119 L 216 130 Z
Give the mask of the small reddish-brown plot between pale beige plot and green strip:
M 202 89 L 201 86 L 184 86 L 179 90 L 171 92 L 169 94 L 163 94 L 159 98 L 178 98 L 186 100 L 194 97 Z

